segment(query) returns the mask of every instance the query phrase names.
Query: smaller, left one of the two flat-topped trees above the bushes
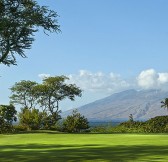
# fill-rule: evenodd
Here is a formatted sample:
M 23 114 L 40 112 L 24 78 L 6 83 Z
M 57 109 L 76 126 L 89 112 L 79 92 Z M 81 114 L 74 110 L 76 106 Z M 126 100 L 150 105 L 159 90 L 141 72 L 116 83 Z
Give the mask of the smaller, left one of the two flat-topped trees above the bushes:
M 34 87 L 37 85 L 34 81 L 22 80 L 16 82 L 12 88 L 10 88 L 12 95 L 10 97 L 12 104 L 20 104 L 22 107 L 33 108 L 36 103 L 36 96 Z

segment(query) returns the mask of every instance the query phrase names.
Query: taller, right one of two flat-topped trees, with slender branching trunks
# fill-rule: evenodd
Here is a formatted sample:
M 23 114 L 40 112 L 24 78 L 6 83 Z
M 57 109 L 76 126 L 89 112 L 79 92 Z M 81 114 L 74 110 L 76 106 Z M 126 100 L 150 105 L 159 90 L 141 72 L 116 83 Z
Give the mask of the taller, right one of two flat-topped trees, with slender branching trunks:
M 66 83 L 68 79 L 65 76 L 48 77 L 43 80 L 42 84 L 35 87 L 40 106 L 58 118 L 60 101 L 66 98 L 74 101 L 76 96 L 82 95 L 82 90 L 79 87 Z

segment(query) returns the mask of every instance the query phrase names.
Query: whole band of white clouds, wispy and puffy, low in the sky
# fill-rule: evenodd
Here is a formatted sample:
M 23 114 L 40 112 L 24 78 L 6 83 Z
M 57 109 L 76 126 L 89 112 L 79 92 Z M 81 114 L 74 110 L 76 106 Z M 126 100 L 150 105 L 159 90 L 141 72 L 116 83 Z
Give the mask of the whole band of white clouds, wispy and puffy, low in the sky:
M 49 77 L 50 74 L 39 74 L 41 79 Z M 168 72 L 160 73 L 154 69 L 140 72 L 134 79 L 123 79 L 120 74 L 90 72 L 80 70 L 77 74 L 69 74 L 68 83 L 76 84 L 82 90 L 92 93 L 103 93 L 105 95 L 122 90 L 134 89 L 165 89 L 168 87 Z M 168 89 L 168 88 L 167 88 Z

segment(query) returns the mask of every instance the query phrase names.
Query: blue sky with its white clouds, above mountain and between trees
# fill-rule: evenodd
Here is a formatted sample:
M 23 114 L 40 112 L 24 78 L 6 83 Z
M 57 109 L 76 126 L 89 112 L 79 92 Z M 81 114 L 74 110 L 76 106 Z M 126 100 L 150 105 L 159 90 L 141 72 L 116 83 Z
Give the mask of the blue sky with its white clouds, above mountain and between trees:
M 39 0 L 57 11 L 62 32 L 36 34 L 27 59 L 0 66 L 0 98 L 20 80 L 67 75 L 84 92 L 74 108 L 129 88 L 168 86 L 167 0 Z

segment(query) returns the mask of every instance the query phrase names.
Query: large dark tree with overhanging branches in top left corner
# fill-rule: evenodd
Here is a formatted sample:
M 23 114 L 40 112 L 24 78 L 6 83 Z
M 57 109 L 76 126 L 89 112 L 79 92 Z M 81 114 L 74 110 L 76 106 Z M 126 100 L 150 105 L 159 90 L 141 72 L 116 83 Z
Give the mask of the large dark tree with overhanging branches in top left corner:
M 26 58 L 40 28 L 59 32 L 58 15 L 35 0 L 0 1 L 0 64 L 16 65 L 16 55 Z

